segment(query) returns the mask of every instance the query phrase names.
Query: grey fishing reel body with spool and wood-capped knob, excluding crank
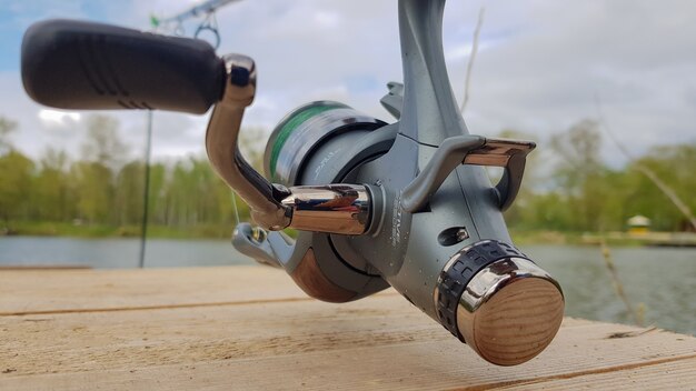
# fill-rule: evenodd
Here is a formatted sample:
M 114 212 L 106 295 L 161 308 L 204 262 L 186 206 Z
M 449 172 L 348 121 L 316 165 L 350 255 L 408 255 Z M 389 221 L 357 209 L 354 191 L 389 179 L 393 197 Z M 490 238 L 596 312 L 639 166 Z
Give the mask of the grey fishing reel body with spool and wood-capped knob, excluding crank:
M 295 248 L 277 248 L 279 233 L 268 233 L 266 245 L 246 239 L 252 229 L 241 225 L 233 242 L 252 257 L 265 245 L 268 263 L 320 300 L 391 285 L 484 359 L 518 364 L 550 343 L 564 309 L 557 282 L 511 245 L 501 214 L 535 144 L 468 133 L 441 37 L 429 30 L 440 26 L 443 6 L 399 3 L 405 83 L 389 83 L 382 98 L 396 123 L 315 102 L 282 120 L 266 149 L 267 174 L 284 186 L 359 183 L 370 200 L 362 232 L 315 225 Z M 498 184 L 483 166 L 504 168 Z

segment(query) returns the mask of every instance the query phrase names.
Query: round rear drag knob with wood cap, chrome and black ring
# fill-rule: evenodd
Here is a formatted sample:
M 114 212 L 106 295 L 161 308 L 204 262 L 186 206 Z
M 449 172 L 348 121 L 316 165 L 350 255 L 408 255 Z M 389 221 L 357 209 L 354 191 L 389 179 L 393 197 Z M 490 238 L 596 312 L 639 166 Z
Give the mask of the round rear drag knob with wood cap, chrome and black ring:
M 558 283 L 514 247 L 483 241 L 457 252 L 438 280 L 440 322 L 485 360 L 516 365 L 539 354 L 560 328 Z

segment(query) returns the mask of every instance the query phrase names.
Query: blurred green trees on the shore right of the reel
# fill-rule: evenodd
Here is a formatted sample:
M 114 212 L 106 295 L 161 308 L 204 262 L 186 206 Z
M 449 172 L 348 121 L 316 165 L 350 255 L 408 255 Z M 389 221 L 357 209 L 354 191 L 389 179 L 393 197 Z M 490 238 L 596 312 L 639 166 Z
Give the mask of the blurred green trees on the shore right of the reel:
M 693 231 L 689 219 L 643 171 L 654 172 L 696 210 L 696 142 L 655 146 L 624 167 L 612 168 L 600 157 L 604 139 L 600 123 L 583 120 L 553 136 L 546 150 L 533 152 L 523 190 L 507 213 L 510 227 L 622 231 L 629 218 L 640 214 L 652 220 L 654 231 Z

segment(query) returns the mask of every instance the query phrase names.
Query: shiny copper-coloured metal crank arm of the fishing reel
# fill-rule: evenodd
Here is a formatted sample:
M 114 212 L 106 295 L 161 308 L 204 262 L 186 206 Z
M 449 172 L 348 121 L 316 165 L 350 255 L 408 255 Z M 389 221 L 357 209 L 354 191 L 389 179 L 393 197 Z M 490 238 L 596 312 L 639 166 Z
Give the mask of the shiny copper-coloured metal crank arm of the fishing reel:
M 365 233 L 370 223 L 372 197 L 366 186 L 335 183 L 286 188 L 270 183 L 239 152 L 237 143 L 246 108 L 256 94 L 256 66 L 241 54 L 223 58 L 228 81 L 206 132 L 208 160 L 218 176 L 251 209 L 261 228 L 344 234 Z

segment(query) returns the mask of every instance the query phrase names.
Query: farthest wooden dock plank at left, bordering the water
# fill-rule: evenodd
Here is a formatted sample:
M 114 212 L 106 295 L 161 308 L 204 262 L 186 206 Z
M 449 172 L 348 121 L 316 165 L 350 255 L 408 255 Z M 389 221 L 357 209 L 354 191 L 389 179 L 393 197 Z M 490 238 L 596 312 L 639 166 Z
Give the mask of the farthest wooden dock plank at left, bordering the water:
M 281 270 L 22 270 L 0 272 L 0 315 L 306 299 Z

